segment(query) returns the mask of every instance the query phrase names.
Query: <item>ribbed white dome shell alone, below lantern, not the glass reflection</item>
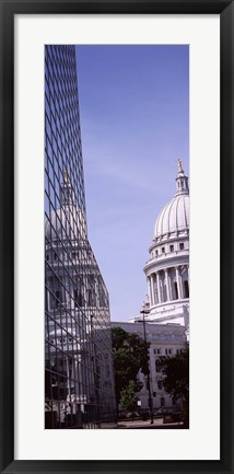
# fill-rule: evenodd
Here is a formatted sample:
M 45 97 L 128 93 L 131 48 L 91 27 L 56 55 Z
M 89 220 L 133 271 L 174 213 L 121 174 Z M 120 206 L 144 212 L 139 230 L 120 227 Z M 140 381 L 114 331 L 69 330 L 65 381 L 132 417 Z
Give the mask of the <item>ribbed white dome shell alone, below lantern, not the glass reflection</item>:
M 169 238 L 188 229 L 189 195 L 182 194 L 175 196 L 160 212 L 154 228 L 154 238 Z

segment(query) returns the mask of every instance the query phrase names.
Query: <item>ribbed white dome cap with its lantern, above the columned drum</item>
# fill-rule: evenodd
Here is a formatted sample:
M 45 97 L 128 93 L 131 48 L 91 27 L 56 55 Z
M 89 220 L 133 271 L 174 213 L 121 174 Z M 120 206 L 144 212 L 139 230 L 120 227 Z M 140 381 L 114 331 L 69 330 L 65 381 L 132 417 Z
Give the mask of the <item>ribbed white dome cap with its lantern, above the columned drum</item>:
M 174 198 L 160 212 L 154 240 L 160 241 L 185 235 L 189 230 L 189 189 L 188 178 L 180 167 L 176 177 L 177 190 Z

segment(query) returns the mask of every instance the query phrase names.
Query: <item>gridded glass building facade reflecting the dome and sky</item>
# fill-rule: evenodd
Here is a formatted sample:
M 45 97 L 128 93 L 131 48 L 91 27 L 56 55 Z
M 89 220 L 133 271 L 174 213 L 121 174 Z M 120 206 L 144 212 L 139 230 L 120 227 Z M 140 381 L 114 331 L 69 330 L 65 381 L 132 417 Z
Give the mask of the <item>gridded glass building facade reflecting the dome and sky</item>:
M 115 427 L 108 293 L 87 240 L 74 46 L 45 47 L 45 428 Z

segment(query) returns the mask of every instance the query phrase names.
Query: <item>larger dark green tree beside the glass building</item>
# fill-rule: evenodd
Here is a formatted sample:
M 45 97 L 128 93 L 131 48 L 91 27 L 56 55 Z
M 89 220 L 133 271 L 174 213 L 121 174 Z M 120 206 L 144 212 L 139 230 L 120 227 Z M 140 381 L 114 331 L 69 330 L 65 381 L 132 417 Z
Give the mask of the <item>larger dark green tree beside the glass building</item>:
M 141 390 L 142 383 L 138 380 L 138 372 L 140 369 L 144 374 L 149 371 L 150 345 L 138 334 L 127 333 L 121 327 L 112 328 L 112 338 L 116 397 L 120 403 L 121 391 L 128 388 L 129 382 L 133 383 L 134 392 Z

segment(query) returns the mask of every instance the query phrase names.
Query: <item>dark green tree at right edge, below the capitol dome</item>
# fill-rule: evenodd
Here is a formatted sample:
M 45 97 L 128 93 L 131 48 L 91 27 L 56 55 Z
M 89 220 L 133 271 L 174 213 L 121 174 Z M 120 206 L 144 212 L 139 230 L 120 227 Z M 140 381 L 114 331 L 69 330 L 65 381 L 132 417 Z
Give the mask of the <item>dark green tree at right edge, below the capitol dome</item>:
M 161 357 L 162 384 L 174 400 L 189 400 L 189 350 L 174 357 Z

